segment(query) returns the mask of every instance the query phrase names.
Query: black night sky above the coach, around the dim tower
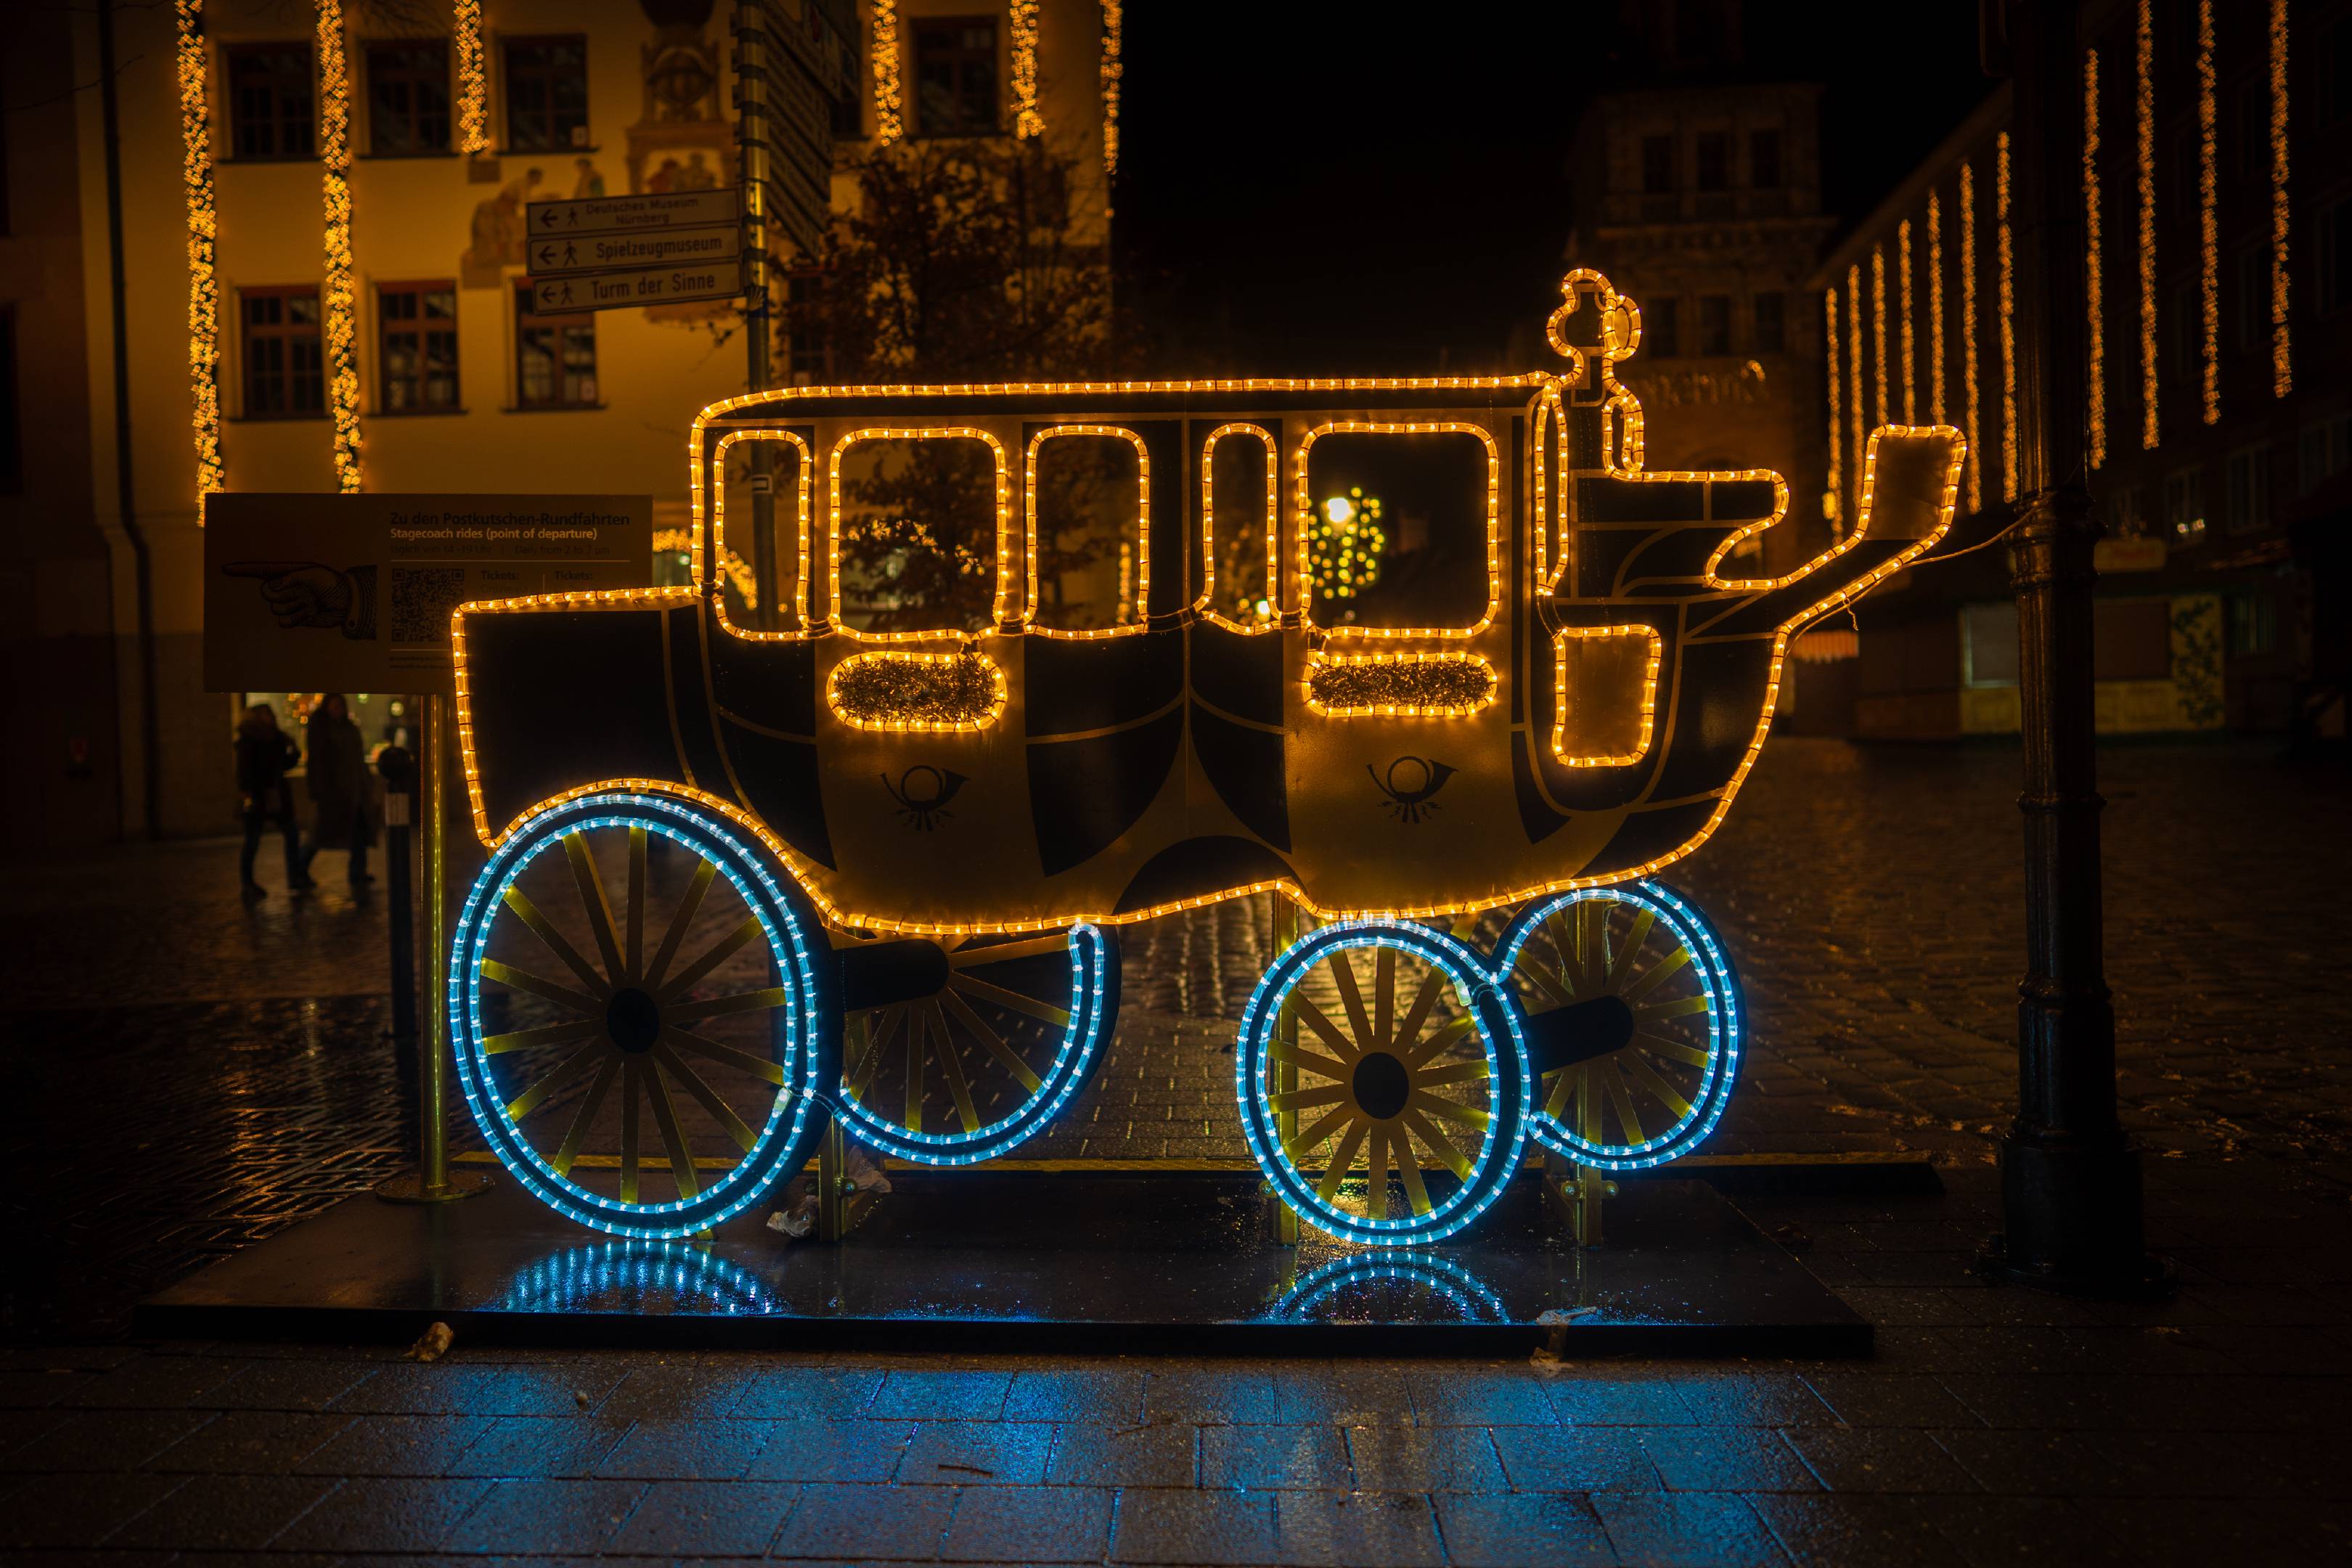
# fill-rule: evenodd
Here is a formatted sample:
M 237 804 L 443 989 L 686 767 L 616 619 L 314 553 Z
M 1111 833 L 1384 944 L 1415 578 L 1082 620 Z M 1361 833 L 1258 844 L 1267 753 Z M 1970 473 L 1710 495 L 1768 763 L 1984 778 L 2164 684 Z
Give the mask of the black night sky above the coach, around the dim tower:
M 1613 9 L 1129 5 L 1117 249 L 1148 362 L 1503 367 L 1557 303 L 1578 101 L 1616 71 L 1590 19 Z M 1828 82 L 1849 223 L 1992 87 L 1969 0 L 1752 0 L 1748 59 Z

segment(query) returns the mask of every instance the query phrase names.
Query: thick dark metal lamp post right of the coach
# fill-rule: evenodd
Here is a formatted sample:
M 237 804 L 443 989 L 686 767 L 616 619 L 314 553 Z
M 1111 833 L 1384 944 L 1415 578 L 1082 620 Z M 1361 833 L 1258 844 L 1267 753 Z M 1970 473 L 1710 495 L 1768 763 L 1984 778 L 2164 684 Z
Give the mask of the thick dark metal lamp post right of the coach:
M 1999 5 L 1999 0 L 1992 0 Z M 2016 68 L 2018 696 L 2025 750 L 2025 980 L 2018 1119 L 2002 1140 L 2009 1279 L 2143 1288 L 2140 1161 L 2114 1117 L 2114 1009 L 2100 971 L 2098 750 L 2084 473 L 2082 38 L 2072 0 L 2011 5 Z

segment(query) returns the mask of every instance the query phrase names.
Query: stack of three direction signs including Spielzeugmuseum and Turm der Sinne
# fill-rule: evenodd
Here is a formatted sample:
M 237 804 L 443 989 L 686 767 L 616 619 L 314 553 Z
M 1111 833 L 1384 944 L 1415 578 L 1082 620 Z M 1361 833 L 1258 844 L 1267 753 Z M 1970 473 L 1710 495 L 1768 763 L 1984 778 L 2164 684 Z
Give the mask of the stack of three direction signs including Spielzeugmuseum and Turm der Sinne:
M 532 308 L 626 310 L 743 292 L 739 193 L 590 195 L 532 202 Z

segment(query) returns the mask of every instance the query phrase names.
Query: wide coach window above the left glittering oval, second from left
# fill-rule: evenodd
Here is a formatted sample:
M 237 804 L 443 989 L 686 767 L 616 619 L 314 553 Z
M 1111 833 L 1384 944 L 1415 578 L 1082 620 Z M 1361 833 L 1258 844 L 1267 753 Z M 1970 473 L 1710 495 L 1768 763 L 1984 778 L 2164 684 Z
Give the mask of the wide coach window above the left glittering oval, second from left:
M 995 625 L 1002 463 L 978 435 L 856 437 L 835 451 L 844 628 L 920 635 Z

